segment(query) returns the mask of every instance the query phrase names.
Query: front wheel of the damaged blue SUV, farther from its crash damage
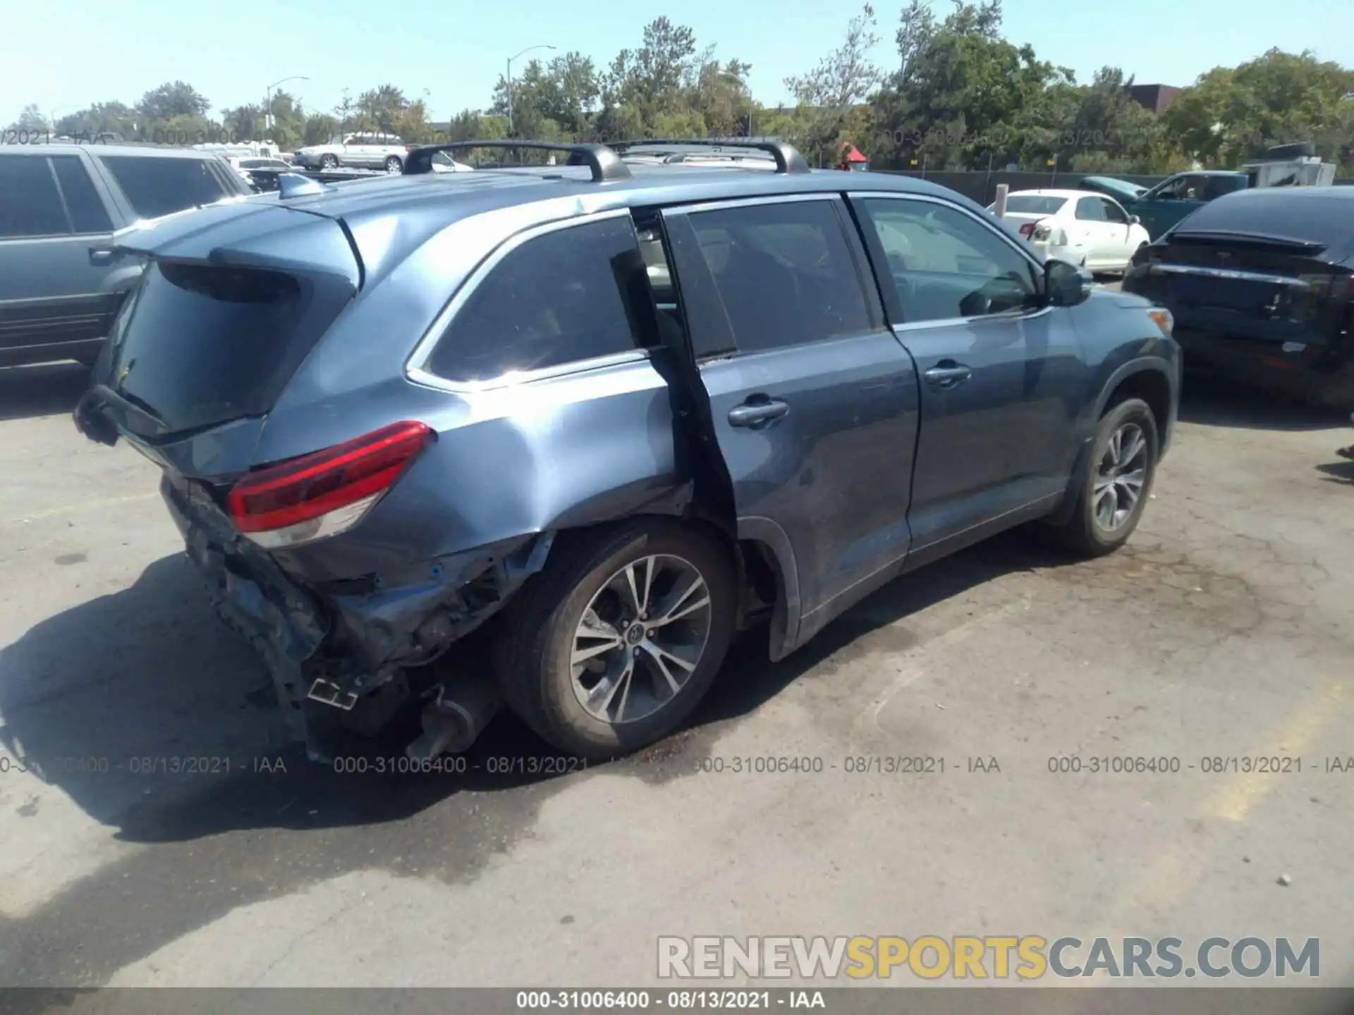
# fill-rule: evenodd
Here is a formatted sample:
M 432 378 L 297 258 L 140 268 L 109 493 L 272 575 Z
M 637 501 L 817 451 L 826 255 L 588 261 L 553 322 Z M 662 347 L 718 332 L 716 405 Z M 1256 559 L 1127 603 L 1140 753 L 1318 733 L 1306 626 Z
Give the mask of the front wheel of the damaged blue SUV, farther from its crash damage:
M 1076 490 L 1076 506 L 1049 535 L 1079 556 L 1113 554 L 1133 535 L 1143 517 L 1160 438 L 1151 407 L 1140 398 L 1124 398 L 1101 417 L 1091 452 Z

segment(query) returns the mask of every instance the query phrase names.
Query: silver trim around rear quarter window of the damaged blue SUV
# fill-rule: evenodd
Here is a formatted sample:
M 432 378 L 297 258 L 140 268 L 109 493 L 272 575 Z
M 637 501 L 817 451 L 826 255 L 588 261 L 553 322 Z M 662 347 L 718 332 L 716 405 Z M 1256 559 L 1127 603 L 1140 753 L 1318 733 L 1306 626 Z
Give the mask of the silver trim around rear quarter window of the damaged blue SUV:
M 523 244 L 536 240 L 538 237 L 558 233 L 565 229 L 586 226 L 593 222 L 607 222 L 615 218 L 628 219 L 630 208 L 611 208 L 608 211 L 597 211 L 588 215 L 575 215 L 573 218 L 542 222 L 513 233 L 510 237 L 498 244 L 498 246 L 496 246 L 489 256 L 485 257 L 485 260 L 482 260 L 473 272 L 470 272 L 466 280 L 460 283 L 451 299 L 447 300 L 447 306 L 443 307 L 441 313 L 433 318 L 432 325 L 428 326 L 428 330 L 424 332 L 418 344 L 414 346 L 414 351 L 409 353 L 409 359 L 405 360 L 405 378 L 424 387 L 470 395 L 477 391 L 494 391 L 498 388 L 527 384 L 533 380 L 544 380 L 547 378 L 558 378 L 569 374 L 581 374 L 584 371 L 621 365 L 626 363 L 643 363 L 649 360 L 649 351 L 636 346 L 635 349 L 613 352 L 605 356 L 592 356 L 586 360 L 561 363 L 554 367 L 501 374 L 497 378 L 489 378 L 485 380 L 451 380 L 428 369 L 428 361 L 432 359 L 432 353 L 437 348 L 437 342 L 440 342 L 441 337 L 447 333 L 447 329 L 451 326 L 451 322 L 455 319 L 458 311 L 466 304 L 470 296 L 474 295 L 475 290 L 479 288 L 481 283 L 483 283 L 489 273 L 493 272 L 508 254 Z

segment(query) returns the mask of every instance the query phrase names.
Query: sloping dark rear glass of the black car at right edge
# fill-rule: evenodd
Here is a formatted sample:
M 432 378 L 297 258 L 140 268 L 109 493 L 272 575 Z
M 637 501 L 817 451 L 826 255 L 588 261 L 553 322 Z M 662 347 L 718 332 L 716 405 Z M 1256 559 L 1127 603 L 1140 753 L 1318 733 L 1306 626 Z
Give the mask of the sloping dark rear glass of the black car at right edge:
M 1354 235 L 1354 195 L 1274 188 L 1242 191 L 1204 204 L 1175 227 L 1177 234 L 1248 233 L 1345 248 Z

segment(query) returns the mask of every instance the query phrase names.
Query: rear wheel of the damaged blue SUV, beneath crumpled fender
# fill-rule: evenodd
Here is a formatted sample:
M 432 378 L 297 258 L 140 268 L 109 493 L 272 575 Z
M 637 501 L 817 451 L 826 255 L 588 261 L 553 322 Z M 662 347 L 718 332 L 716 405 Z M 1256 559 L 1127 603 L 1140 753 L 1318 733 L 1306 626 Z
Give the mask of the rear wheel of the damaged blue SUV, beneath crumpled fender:
M 709 690 L 737 581 L 701 528 L 636 520 L 556 545 L 497 636 L 504 700 L 542 739 L 605 759 L 674 732 Z

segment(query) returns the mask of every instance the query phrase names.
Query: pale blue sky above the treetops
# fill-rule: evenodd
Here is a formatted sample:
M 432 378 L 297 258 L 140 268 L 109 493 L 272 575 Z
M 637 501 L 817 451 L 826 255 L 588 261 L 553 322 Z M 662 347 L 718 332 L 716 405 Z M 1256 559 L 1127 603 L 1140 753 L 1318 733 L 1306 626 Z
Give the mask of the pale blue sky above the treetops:
M 619 49 L 638 46 L 643 26 L 661 14 L 689 24 L 699 43 L 716 43 L 720 58 L 749 61 L 753 93 L 776 104 L 788 99 L 784 77 L 833 50 L 858 9 L 822 0 L 8 0 L 4 7 L 0 125 L 27 103 L 61 115 L 96 100 L 133 103 L 175 78 L 196 87 L 219 112 L 261 102 L 264 88 L 288 74 L 310 78 L 287 85 L 310 108 L 332 110 L 344 88 L 356 96 L 390 83 L 410 97 L 427 89 L 432 118 L 445 119 L 486 106 L 505 58 L 527 46 L 577 49 L 605 65 Z M 876 3 L 883 66 L 894 62 L 902 7 L 900 0 Z M 949 11 L 949 0 L 936 0 L 934 9 Z M 1271 46 L 1312 49 L 1354 65 L 1351 15 L 1350 0 L 1284 0 L 1280 7 L 1261 0 L 1006 0 L 1006 34 L 1074 68 L 1079 80 L 1110 64 L 1141 84 L 1185 85 Z

